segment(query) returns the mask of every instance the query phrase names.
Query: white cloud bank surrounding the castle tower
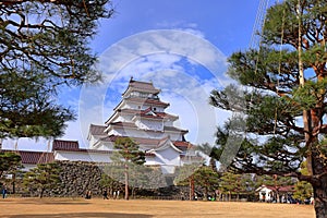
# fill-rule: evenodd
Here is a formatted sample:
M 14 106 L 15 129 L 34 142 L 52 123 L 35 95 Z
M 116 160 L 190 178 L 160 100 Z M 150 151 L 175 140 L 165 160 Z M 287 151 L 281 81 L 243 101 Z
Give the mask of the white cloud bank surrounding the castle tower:
M 162 90 L 162 100 L 171 104 L 168 111 L 180 117 L 192 143 L 213 144 L 217 124 L 229 116 L 208 105 L 214 88 L 232 82 L 225 75 L 226 57 L 198 31 L 159 29 L 130 36 L 108 48 L 96 68 L 105 81 L 83 86 L 78 120 L 69 123 L 64 136 L 82 146 L 87 144 L 89 124 L 104 124 L 111 116 L 131 76 L 153 81 Z

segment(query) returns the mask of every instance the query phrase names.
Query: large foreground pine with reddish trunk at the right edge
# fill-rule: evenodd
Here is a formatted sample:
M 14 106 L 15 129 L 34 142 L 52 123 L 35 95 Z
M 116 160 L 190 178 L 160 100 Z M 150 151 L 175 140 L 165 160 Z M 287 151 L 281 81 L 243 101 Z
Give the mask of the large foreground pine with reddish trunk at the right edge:
M 245 129 L 245 140 L 229 156 L 240 172 L 295 177 L 313 185 L 316 217 L 327 217 L 326 125 L 327 2 L 286 0 L 266 14 L 258 49 L 234 52 L 228 74 L 242 85 L 213 90 L 211 105 L 245 114 L 217 131 L 220 158 L 228 138 Z M 255 138 L 258 140 L 255 140 Z M 306 159 L 308 174 L 299 171 Z M 220 160 L 221 161 L 221 160 Z

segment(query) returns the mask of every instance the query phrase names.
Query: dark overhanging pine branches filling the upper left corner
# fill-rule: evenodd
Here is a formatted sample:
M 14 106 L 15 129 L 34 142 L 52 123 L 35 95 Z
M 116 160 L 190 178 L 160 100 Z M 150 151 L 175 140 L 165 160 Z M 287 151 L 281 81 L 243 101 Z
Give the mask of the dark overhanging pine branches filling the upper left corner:
M 88 45 L 98 20 L 112 14 L 108 3 L 0 2 L 0 138 L 63 134 L 74 113 L 56 96 L 63 86 L 100 78 Z

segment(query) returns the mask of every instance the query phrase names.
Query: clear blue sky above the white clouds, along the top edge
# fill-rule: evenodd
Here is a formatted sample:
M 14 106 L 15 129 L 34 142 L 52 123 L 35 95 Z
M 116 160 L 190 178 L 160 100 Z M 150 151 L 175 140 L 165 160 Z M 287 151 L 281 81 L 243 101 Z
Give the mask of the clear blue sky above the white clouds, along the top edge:
M 259 0 L 117 0 L 116 15 L 101 22 L 93 47 L 101 53 L 140 32 L 194 29 L 226 56 L 249 46 Z

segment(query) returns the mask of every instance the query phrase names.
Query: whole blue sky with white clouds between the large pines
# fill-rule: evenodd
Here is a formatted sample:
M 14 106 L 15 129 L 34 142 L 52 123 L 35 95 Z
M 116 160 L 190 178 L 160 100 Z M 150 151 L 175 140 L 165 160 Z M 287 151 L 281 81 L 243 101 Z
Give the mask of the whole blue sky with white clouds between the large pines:
M 209 92 L 230 84 L 226 59 L 250 46 L 259 0 L 116 0 L 116 14 L 99 22 L 90 47 L 100 57 L 99 86 L 64 88 L 59 101 L 77 113 L 61 138 L 87 147 L 90 123 L 104 124 L 131 76 L 161 88 L 186 140 L 214 143 L 215 126 L 229 116 L 210 107 Z M 16 141 L 4 141 L 12 148 Z M 47 149 L 44 140 L 20 140 L 19 149 Z

